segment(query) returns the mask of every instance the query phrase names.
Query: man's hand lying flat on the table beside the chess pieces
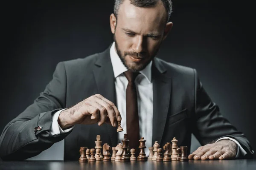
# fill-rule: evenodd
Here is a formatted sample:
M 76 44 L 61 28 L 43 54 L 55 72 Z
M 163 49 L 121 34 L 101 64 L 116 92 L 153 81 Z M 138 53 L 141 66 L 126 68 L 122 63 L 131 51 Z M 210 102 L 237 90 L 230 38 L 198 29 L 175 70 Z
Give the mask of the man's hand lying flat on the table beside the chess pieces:
M 237 153 L 237 144 L 229 139 L 223 139 L 212 144 L 198 147 L 195 152 L 188 156 L 194 160 L 234 159 Z

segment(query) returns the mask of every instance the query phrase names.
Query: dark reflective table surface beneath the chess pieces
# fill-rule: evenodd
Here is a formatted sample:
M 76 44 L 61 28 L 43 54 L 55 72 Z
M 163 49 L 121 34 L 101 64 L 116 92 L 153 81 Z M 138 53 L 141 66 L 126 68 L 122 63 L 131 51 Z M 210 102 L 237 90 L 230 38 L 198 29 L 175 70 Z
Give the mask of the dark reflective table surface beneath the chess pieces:
M 256 170 L 256 159 L 188 162 L 1 161 L 0 170 Z

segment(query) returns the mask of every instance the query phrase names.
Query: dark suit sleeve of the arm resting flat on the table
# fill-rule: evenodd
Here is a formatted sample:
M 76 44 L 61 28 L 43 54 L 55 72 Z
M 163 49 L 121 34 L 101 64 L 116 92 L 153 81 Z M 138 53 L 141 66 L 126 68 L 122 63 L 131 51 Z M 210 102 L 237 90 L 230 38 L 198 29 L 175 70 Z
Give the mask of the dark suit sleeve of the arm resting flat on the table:
M 210 99 L 204 90 L 196 71 L 195 73 L 195 116 L 193 116 L 194 127 L 192 133 L 201 143 L 205 145 L 222 137 L 236 139 L 247 154 L 241 158 L 253 158 L 253 149 L 244 134 L 236 129 L 220 113 L 218 105 Z

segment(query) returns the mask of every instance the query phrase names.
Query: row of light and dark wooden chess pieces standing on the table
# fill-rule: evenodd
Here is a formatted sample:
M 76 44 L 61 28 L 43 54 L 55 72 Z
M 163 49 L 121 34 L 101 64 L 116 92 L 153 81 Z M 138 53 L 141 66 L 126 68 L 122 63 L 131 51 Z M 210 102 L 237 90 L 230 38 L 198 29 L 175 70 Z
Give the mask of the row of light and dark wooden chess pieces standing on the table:
M 167 142 L 163 149 L 160 148 L 160 144 L 156 141 L 153 147 L 149 147 L 149 156 L 145 156 L 145 142 L 146 140 L 142 137 L 140 140 L 140 153 L 139 156 L 135 156 L 135 149 L 129 149 L 128 143 L 129 139 L 127 139 L 127 134 L 124 135 L 124 139 L 122 143 L 116 145 L 116 147 L 110 147 L 108 143 L 103 144 L 101 146 L 102 141 L 100 140 L 100 135 L 96 136 L 95 148 L 87 148 L 80 147 L 80 158 L 79 162 L 87 162 L 87 161 L 188 161 L 187 157 L 187 146 L 177 146 L 178 140 L 174 137 L 173 140 Z M 101 149 L 103 152 L 101 153 Z M 113 151 L 112 156 L 109 152 Z M 162 153 L 165 150 L 164 154 Z M 103 155 L 103 156 L 102 156 Z

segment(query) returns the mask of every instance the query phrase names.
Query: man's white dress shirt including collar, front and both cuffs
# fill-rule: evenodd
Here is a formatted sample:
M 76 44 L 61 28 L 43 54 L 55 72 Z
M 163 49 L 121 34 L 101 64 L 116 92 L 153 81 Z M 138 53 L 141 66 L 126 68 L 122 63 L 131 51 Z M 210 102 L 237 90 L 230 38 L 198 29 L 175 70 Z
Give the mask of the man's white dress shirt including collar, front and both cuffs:
M 122 122 L 121 126 L 124 131 L 118 133 L 118 143 L 122 143 L 122 139 L 124 138 L 124 134 L 126 133 L 126 87 L 128 85 L 128 80 L 123 74 L 127 71 L 125 65 L 123 65 L 121 59 L 115 50 L 115 42 L 113 42 L 110 48 L 110 58 L 113 66 L 113 73 L 115 77 L 115 89 L 116 89 L 116 107 L 118 108 L 121 116 Z M 151 66 L 152 61 L 147 65 L 145 69 L 140 71 L 140 74 L 135 79 L 135 85 L 137 89 L 137 101 L 138 101 L 138 113 L 139 113 L 139 125 L 140 125 L 140 136 L 144 137 L 146 140 L 145 145 L 147 149 L 145 149 L 146 156 L 149 155 L 148 147 L 152 146 L 152 134 L 153 134 L 153 84 L 151 80 Z M 70 127 L 69 129 L 62 130 L 58 125 L 58 116 L 65 109 L 62 109 L 55 114 L 52 115 L 52 126 L 50 128 L 50 133 L 52 135 L 57 135 L 60 133 L 67 133 L 73 129 Z M 95 134 L 96 136 L 97 134 Z M 243 155 L 246 154 L 246 151 L 241 147 L 239 142 L 235 139 L 224 137 L 221 139 L 230 139 L 236 142 L 238 146 L 238 152 L 236 157 L 239 156 L 240 153 Z M 221 140 L 221 139 L 218 139 Z M 217 141 L 216 141 L 217 142 Z M 112 146 L 115 147 L 115 146 Z M 130 148 L 131 149 L 131 148 Z M 134 148 L 138 149 L 138 148 Z

